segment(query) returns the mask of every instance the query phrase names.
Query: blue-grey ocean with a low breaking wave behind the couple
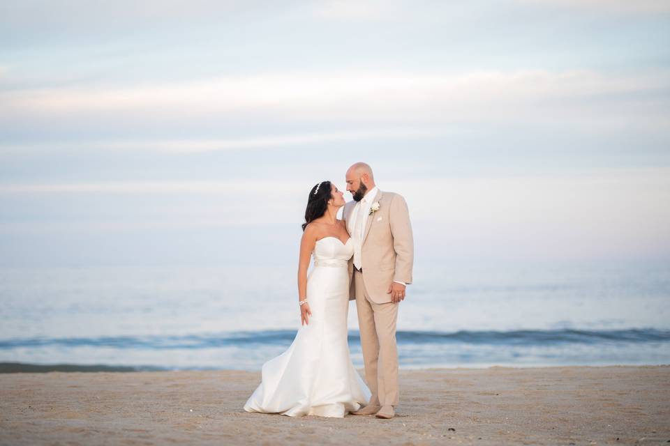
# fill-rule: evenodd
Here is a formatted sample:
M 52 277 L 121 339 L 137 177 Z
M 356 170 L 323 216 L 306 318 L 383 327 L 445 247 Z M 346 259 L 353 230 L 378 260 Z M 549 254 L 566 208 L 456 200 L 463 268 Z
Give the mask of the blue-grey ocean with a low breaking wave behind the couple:
M 670 364 L 669 263 L 431 263 L 414 276 L 401 369 Z M 295 282 L 293 265 L 0 268 L 0 371 L 258 370 L 295 337 Z M 353 302 L 349 329 L 362 367 Z

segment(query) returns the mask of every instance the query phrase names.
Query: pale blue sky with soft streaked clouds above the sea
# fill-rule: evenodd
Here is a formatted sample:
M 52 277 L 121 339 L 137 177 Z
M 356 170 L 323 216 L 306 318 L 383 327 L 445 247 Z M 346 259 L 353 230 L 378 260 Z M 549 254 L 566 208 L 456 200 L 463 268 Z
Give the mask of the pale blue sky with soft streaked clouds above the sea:
M 3 1 L 0 266 L 296 261 L 357 161 L 418 262 L 668 261 L 669 42 L 667 1 Z

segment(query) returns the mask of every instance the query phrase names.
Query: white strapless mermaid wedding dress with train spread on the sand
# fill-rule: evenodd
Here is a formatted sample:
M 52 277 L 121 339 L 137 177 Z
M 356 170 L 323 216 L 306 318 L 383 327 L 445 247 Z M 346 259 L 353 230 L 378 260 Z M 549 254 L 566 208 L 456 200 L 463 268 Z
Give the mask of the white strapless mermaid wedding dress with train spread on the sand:
M 347 341 L 351 239 L 317 240 L 307 277 L 312 315 L 291 346 L 262 367 L 262 380 L 244 405 L 247 412 L 295 417 L 343 417 L 370 399 L 370 390 L 351 362 Z

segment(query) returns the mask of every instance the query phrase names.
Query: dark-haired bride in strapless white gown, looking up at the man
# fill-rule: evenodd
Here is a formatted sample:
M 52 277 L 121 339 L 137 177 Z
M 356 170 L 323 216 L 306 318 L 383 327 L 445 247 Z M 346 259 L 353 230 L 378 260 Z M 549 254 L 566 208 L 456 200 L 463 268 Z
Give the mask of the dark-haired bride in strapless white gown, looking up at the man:
M 348 261 L 354 247 L 336 217 L 344 204 L 344 193 L 330 181 L 309 192 L 298 266 L 301 327 L 288 350 L 263 364 L 261 383 L 244 405 L 247 412 L 343 417 L 370 399 L 347 343 Z M 307 275 L 311 254 L 314 268 Z

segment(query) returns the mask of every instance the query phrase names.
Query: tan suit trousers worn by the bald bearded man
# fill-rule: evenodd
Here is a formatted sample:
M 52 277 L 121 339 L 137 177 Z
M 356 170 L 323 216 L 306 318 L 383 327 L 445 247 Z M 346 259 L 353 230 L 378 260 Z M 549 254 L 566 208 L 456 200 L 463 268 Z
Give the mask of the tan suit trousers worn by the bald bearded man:
M 354 284 L 365 380 L 372 393 L 370 404 L 397 406 L 399 395 L 396 321 L 399 304 L 378 304 L 370 300 L 363 282 L 363 273 L 358 270 L 354 270 Z

